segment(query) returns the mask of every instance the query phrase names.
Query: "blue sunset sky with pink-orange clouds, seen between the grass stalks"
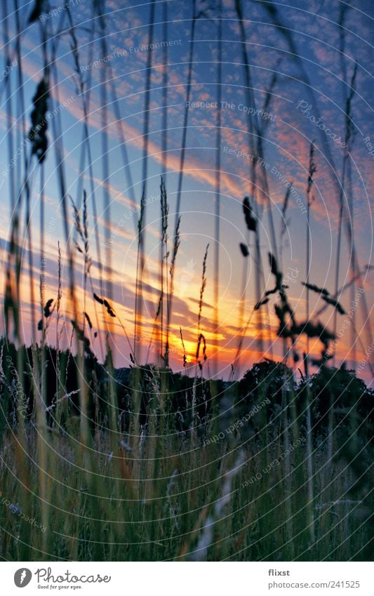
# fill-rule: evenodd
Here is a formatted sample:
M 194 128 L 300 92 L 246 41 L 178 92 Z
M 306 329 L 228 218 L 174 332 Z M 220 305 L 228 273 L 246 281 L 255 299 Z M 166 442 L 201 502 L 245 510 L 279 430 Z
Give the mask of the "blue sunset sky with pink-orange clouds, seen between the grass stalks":
M 82 154 L 83 111 L 82 97 L 77 96 L 78 78 L 74 72 L 74 55 L 71 48 L 71 37 L 65 31 L 68 27 L 67 11 L 62 9 L 58 15 L 50 14 L 39 22 L 25 27 L 22 34 L 22 69 L 24 77 L 25 105 L 27 105 L 27 126 L 36 84 L 43 76 L 43 54 L 40 46 L 41 31 L 48 27 L 48 33 L 57 34 L 58 48 L 56 53 L 56 74 L 58 84 L 51 79 L 50 110 L 58 110 L 58 119 L 62 127 L 64 168 L 67 192 L 72 195 L 76 204 L 81 204 L 77 196 L 83 180 L 88 192 L 89 224 L 91 230 L 91 256 L 94 261 L 92 274 L 96 291 L 98 291 L 99 269 L 95 252 L 93 235 L 94 220 L 91 207 L 91 188 L 95 190 L 98 208 L 98 230 L 102 255 L 105 254 L 105 193 L 109 193 L 111 201 L 111 217 L 113 225 L 107 234 L 112 234 L 112 263 L 114 269 L 114 301 L 121 310 L 121 320 L 131 330 L 133 317 L 134 277 L 136 264 L 135 225 L 142 192 L 143 172 L 143 126 L 145 121 L 145 84 L 147 80 L 147 60 L 149 59 L 149 11 L 146 3 L 132 3 L 122 6 L 118 0 L 105 3 L 105 44 L 98 18 L 93 20 L 91 2 L 82 1 L 73 5 L 71 15 L 79 40 L 79 60 L 86 83 L 84 98 L 88 100 L 88 131 L 92 151 L 92 172 L 84 165 L 80 171 Z M 167 94 L 167 140 L 168 171 L 166 187 L 170 204 L 169 220 L 173 236 L 175 201 L 178 188 L 180 149 L 182 140 L 182 124 L 185 114 L 186 83 L 188 76 L 188 57 L 191 45 L 190 29 L 192 5 L 177 1 L 168 1 L 167 36 L 163 25 L 163 2 L 156 3 L 154 26 L 154 44 L 168 42 L 168 94 Z M 220 110 L 215 107 L 218 93 L 218 21 L 217 11 L 213 8 L 196 22 L 196 38 L 194 44 L 191 101 L 203 102 L 203 106 L 189 108 L 188 131 L 185 154 L 185 173 L 182 186 L 181 201 L 181 244 L 178 254 L 178 278 L 175 282 L 175 350 L 177 350 L 179 326 L 185 330 L 186 345 L 191 355 L 196 342 L 196 320 L 201 284 L 201 267 L 206 244 L 210 244 L 207 261 L 207 284 L 205 291 L 206 305 L 203 308 L 203 326 L 209 341 L 211 352 L 215 343 L 212 326 L 213 305 L 213 267 L 215 228 L 215 162 L 217 152 L 221 157 L 221 219 L 220 219 L 220 330 L 218 347 L 222 358 L 222 373 L 225 375 L 232 362 L 238 323 L 238 307 L 240 299 L 243 258 L 239 251 L 239 242 L 246 241 L 247 234 L 243 220 L 241 201 L 251 192 L 252 167 L 251 150 L 248 147 L 248 126 L 251 117 L 246 113 L 248 93 L 245 88 L 244 70 L 241 59 L 239 25 L 234 11 L 234 2 L 225 0 L 222 6 L 222 88 L 221 99 L 225 102 Z M 301 282 L 306 279 L 305 234 L 306 216 L 300 208 L 300 201 L 306 201 L 305 187 L 309 159 L 309 145 L 316 145 L 316 176 L 314 177 L 314 201 L 310 226 L 311 239 L 311 282 L 326 286 L 331 292 L 335 284 L 335 262 L 337 245 L 337 228 L 339 216 L 339 186 L 342 171 L 343 150 L 336 138 L 345 135 L 345 100 L 349 93 L 349 85 L 342 81 L 342 57 L 340 48 L 340 29 L 337 26 L 341 3 L 338 1 L 310 1 L 308 10 L 305 2 L 276 4 L 278 11 L 277 26 L 274 26 L 265 3 L 246 1 L 244 18 L 246 29 L 246 49 L 251 66 L 253 93 L 256 106 L 260 110 L 264 105 L 270 81 L 277 73 L 276 84 L 272 90 L 272 98 L 267 108 L 267 116 L 257 119 L 262 128 L 262 145 L 264 147 L 264 163 L 269 183 L 269 204 L 280 244 L 281 206 L 286 192 L 286 181 L 293 182 L 297 195 L 290 198 L 287 213 L 287 232 L 283 246 L 283 271 L 297 270 L 297 281 L 290 287 L 289 293 L 296 312 L 302 319 L 305 312 L 305 289 Z M 199 3 L 198 3 L 199 5 Z M 203 3 L 205 6 L 206 3 Z M 20 11 L 21 21 L 26 18 L 33 3 L 24 3 Z M 61 5 L 62 6 L 62 5 Z M 353 218 L 354 242 L 361 269 L 370 263 L 372 251 L 372 192 L 373 192 L 373 155 L 370 155 L 370 143 L 374 145 L 371 132 L 373 123 L 373 81 L 370 67 L 373 51 L 373 6 L 366 1 L 352 3 L 347 11 L 345 22 L 345 56 L 347 80 L 350 81 L 357 63 L 356 88 L 352 100 L 352 122 L 355 131 L 352 152 L 349 155 L 349 167 L 352 171 L 353 211 L 347 210 L 347 216 Z M 8 19 L 11 41 L 9 46 L 15 48 L 14 15 Z M 95 25 L 91 43 L 91 29 Z M 284 25 L 284 29 L 279 25 Z M 3 22 L 4 27 L 4 22 Z M 62 32 L 62 34 L 61 34 Z M 290 39 L 292 41 L 290 41 Z M 133 48 L 138 48 L 135 51 Z M 140 49 L 139 49 L 140 48 Z M 298 55 L 292 54 L 296 48 Z M 126 53 L 125 53 L 126 51 Z M 106 55 L 104 55 L 106 52 Z M 149 96 L 149 137 L 147 160 L 147 208 L 146 208 L 146 254 L 147 284 L 149 284 L 145 302 L 148 322 L 145 324 L 145 338 L 152 341 L 152 319 L 156 312 L 159 296 L 159 180 L 163 172 L 162 128 L 163 128 L 163 48 L 152 50 L 151 92 Z M 110 58 L 109 58 L 110 57 Z M 103 58 L 106 58 L 104 62 Z M 95 60 L 98 62 L 95 63 Z M 100 61 L 100 62 L 99 62 Z M 13 96 L 11 105 L 13 114 L 20 117 L 18 105 L 18 71 L 15 66 L 8 75 Z M 102 81 L 105 81 L 103 86 Z M 1 83 L 4 84 L 4 81 Z M 107 93 L 107 128 L 109 179 L 105 180 L 102 159 L 102 91 Z M 118 110 L 121 120 L 116 117 L 114 94 L 118 99 Z M 0 167 L 2 175 L 2 220 L 1 237 L 6 249 L 11 218 L 9 203 L 9 183 L 11 177 L 4 171 L 11 159 L 9 137 L 13 135 L 14 147 L 20 143 L 20 119 L 15 118 L 11 131 L 8 129 L 7 105 L 9 98 L 2 90 L 0 108 L 1 154 Z M 305 105 L 308 106 L 305 110 Z M 309 107 L 310 106 L 310 107 Z M 305 110 L 303 113 L 302 110 Z M 216 144 L 216 126 L 218 111 L 221 117 L 220 147 Z M 57 117 L 55 117 L 57 118 Z M 313 119 L 323 123 L 334 138 L 329 138 Z M 57 119 L 56 119 L 57 122 Z M 52 139 L 53 122 L 50 122 L 48 135 Z M 128 186 L 128 177 L 123 163 L 123 141 L 126 145 L 129 168 L 133 187 Z M 14 150 L 13 147 L 13 150 Z M 238 157 L 238 152 L 244 155 Z M 330 162 L 333 157 L 333 164 Z M 254 157 L 253 159 L 256 159 Z M 128 172 L 128 170 L 127 170 Z M 22 180 L 22 159 L 15 164 L 17 181 Z M 32 229 L 34 242 L 34 267 L 37 273 L 37 246 L 40 236 L 39 225 L 39 176 L 40 166 L 33 164 L 32 173 Z M 46 252 L 48 263 L 46 268 L 46 289 L 56 291 L 56 254 L 57 240 L 62 247 L 65 238 L 62 231 L 60 192 L 58 186 L 58 169 L 55 161 L 55 147 L 52 143 L 44 166 L 46 192 L 46 228 L 56 218 L 56 230 L 50 234 Z M 299 203 L 296 197 L 300 197 Z M 345 195 L 347 205 L 349 194 Z M 70 222 L 72 229 L 72 220 Z M 251 239 L 253 242 L 253 239 Z M 251 244 L 251 243 L 250 243 Z M 270 248 L 270 233 L 267 207 L 262 213 L 260 223 L 260 244 L 264 268 L 264 283 L 272 285 L 267 267 L 267 251 Z M 246 313 L 250 312 L 255 301 L 254 293 L 254 261 L 252 256 L 248 263 L 246 291 Z M 340 286 L 349 280 L 349 254 L 347 236 L 342 242 L 342 260 L 340 267 Z M 79 255 L 76 255 L 79 268 Z M 65 280 L 66 281 L 66 280 Z M 365 298 L 373 303 L 373 274 L 363 276 Z M 81 277 L 77 270 L 76 283 L 79 286 Z M 265 289 L 265 286 L 264 286 Z M 37 291 L 37 288 L 36 288 Z M 312 298 L 312 307 L 319 309 L 321 303 Z M 91 300 L 91 299 L 90 299 Z M 349 310 L 351 296 L 349 291 L 342 296 L 342 304 Z M 25 289 L 24 331 L 29 338 L 29 307 Z M 91 305 L 92 307 L 92 305 Z M 364 329 L 368 322 L 363 319 L 361 308 L 357 310 L 357 327 L 362 345 L 358 352 L 368 348 L 368 336 Z M 328 311 L 323 321 L 332 325 L 333 314 Z M 330 317 L 330 319 L 328 318 Z M 342 321 L 340 321 L 341 323 Z M 269 331 L 271 341 L 265 342 L 267 347 L 273 343 L 275 355 L 281 354 L 281 346 L 275 337 L 276 319 L 271 313 Z M 257 331 L 253 327 L 248 333 L 246 342 L 245 363 L 248 365 L 258 359 L 256 345 L 253 341 Z M 132 331 L 131 331 L 132 332 Z M 210 336 L 211 334 L 211 336 Z M 119 364 L 126 365 L 129 350 L 123 339 L 121 329 L 114 330 L 114 338 L 118 347 L 116 355 Z M 216 338 L 217 339 L 217 338 Z M 338 345 L 339 359 L 349 359 L 349 333 L 345 333 Z M 180 343 L 180 342 L 179 342 Z M 179 345 L 180 349 L 180 345 Z M 209 353 L 209 351 L 208 351 Z M 180 354 L 175 352 L 173 365 L 180 366 Z M 100 354 L 98 352 L 98 356 Z M 357 356 L 359 359 L 359 355 Z M 367 373 L 367 370 L 364 371 Z

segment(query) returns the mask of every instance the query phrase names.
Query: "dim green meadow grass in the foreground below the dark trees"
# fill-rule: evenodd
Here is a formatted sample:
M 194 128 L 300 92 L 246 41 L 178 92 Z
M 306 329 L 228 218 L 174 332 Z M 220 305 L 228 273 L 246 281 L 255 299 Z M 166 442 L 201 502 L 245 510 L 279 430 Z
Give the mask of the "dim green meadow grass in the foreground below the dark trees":
M 284 411 L 270 415 L 263 406 L 249 424 L 239 425 L 251 412 L 239 400 L 229 418 L 221 406 L 218 422 L 207 421 L 204 432 L 197 413 L 181 430 L 168 407 L 171 395 L 160 409 L 156 369 L 152 382 L 147 432 L 140 427 L 140 439 L 110 430 L 110 420 L 106 428 L 84 427 L 73 411 L 63 426 L 47 425 L 38 406 L 13 426 L 3 420 L 3 559 L 367 559 L 373 498 L 362 470 L 365 475 L 373 450 L 362 417 L 350 434 L 347 416 L 340 419 L 329 461 L 326 430 L 317 428 L 314 413 L 311 478 L 302 402 L 295 418 L 286 407 L 286 422 Z M 225 399 L 232 395 L 220 403 Z M 135 418 L 128 417 L 129 430 Z

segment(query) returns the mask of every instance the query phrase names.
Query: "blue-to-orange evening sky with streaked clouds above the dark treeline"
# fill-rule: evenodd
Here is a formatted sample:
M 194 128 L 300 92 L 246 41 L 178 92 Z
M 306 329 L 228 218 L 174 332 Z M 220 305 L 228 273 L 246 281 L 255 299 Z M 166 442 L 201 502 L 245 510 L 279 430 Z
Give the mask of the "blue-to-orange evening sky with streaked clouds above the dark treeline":
M 34 157 L 30 161 L 27 176 L 32 193 L 30 228 L 37 318 L 40 318 L 41 310 L 39 247 L 42 188 L 45 197 L 44 298 L 55 300 L 57 296 L 60 242 L 62 312 L 65 321 L 62 324 L 61 342 L 65 346 L 69 345 L 69 322 L 72 312 L 68 300 L 67 242 L 59 181 L 62 172 L 66 194 L 72 197 L 77 207 L 80 208 L 82 205 L 83 190 L 87 193 L 92 287 L 88 287 L 86 297 L 83 292 L 83 257 L 78 249 L 73 250 L 74 286 L 79 296 L 80 324 L 84 325 L 83 312 L 86 311 L 93 322 L 93 329 L 87 329 L 86 333 L 90 336 L 93 351 L 100 360 L 103 359 L 102 345 L 105 345 L 105 337 L 109 331 L 116 366 L 130 364 L 132 350 L 123 329 L 126 329 L 130 343 L 133 343 L 137 227 L 140 199 L 145 189 L 144 304 L 140 322 L 142 331 L 137 340 L 137 349 L 140 350 L 142 362 L 147 359 L 149 362 L 159 362 L 159 336 L 155 333 L 154 320 L 160 296 L 160 177 L 162 175 L 166 183 L 169 204 L 168 246 L 172 250 L 186 114 L 189 53 L 192 45 L 192 3 L 176 0 L 156 2 L 152 49 L 149 48 L 149 22 L 152 10 L 149 3 L 124 3 L 119 0 L 102 2 L 100 5 L 104 14 L 100 20 L 93 13 L 91 1 L 70 0 L 65 4 L 53 6 L 54 11 L 51 8 L 49 12 L 41 13 L 40 18 L 31 24 L 28 23 L 28 18 L 34 8 L 34 2 L 21 1 L 19 4 L 18 17 L 22 29 L 19 38 L 22 85 L 18 63 L 11 67 L 8 65 L 8 68 L 6 65 L 6 49 L 8 56 L 17 62 L 17 15 L 13 12 L 4 15 L 4 10 L 1 15 L 0 43 L 4 72 L 0 76 L 0 238 L 3 274 L 13 222 L 12 184 L 15 185 L 15 196 L 22 197 L 19 191 L 25 180 L 24 156 L 25 152 L 28 156 L 30 154 L 29 145 L 22 144 L 22 118 L 28 130 L 31 126 L 32 98 L 44 74 L 42 39 L 46 35 L 49 39 L 49 59 L 55 44 L 55 67 L 50 65 L 49 69 L 49 145 L 43 166 Z M 260 215 L 258 238 L 262 257 L 262 291 L 274 285 L 267 260 L 267 253 L 274 248 L 271 230 L 273 221 L 277 257 L 281 261 L 283 278 L 289 286 L 290 303 L 300 321 L 305 320 L 306 312 L 307 294 L 302 282 L 307 280 L 308 234 L 309 282 L 328 289 L 331 294 L 335 291 L 342 197 L 344 209 L 339 288 L 345 286 L 352 277 L 349 267 L 352 244 L 349 234 L 346 233 L 347 221 L 353 227 L 354 247 L 362 275 L 356 282 L 354 291 L 346 289 L 340 296 L 340 302 L 347 314 L 338 315 L 337 330 L 340 330 L 340 338 L 336 343 L 336 363 L 347 361 L 349 366 L 353 366 L 355 360 L 360 375 L 367 381 L 370 380 L 368 362 L 373 361 L 373 350 L 370 352 L 370 318 L 367 315 L 370 314 L 373 304 L 373 272 L 368 270 L 368 265 L 373 249 L 374 134 L 370 58 L 373 55 L 374 10 L 373 5 L 365 0 L 354 1 L 350 6 L 349 3 L 345 3 L 345 22 L 343 27 L 340 27 L 338 23 L 344 3 L 337 0 L 311 0 L 307 3 L 307 8 L 305 4 L 302 1 L 276 3 L 274 16 L 274 12 L 269 11 L 269 4 L 265 2 L 243 2 L 246 56 L 251 70 L 251 92 L 254 100 L 254 104 L 249 105 L 250 95 L 246 87 L 241 32 L 234 1 L 222 1 L 220 20 L 217 1 L 196 2 L 200 14 L 195 22 L 194 31 L 185 165 L 180 197 L 180 247 L 176 260 L 171 317 L 171 366 L 174 370 L 183 371 L 180 331 L 187 352 L 187 368 L 193 368 L 196 364 L 201 275 L 207 244 L 209 247 L 206 258 L 206 285 L 203 291 L 200 324 L 201 333 L 206 338 L 208 356 L 204 371 L 207 374 L 211 373 L 215 366 L 218 376 L 229 378 L 231 364 L 235 360 L 238 342 L 242 336 L 243 350 L 238 373 L 260 360 L 264 352 L 265 357 L 281 358 L 283 347 L 281 340 L 276 336 L 274 296 L 262 310 L 262 331 L 259 332 L 258 319 L 251 316 L 256 302 L 255 237 L 246 230 L 242 201 L 243 197 L 248 195 L 253 204 L 251 172 L 253 164 L 257 162 L 256 196 L 257 212 Z M 165 15 L 167 24 L 164 22 Z M 72 19 L 78 43 L 78 66 L 75 61 L 76 53 L 72 51 L 69 18 Z M 220 27 L 222 41 L 218 44 Z M 167 56 L 164 50 L 166 42 Z M 149 65 L 150 91 L 147 93 Z M 76 71 L 77 68 L 79 73 Z M 355 68 L 352 91 L 351 82 Z M 84 84 L 83 91 L 80 88 L 81 81 Z M 166 94 L 164 81 L 167 84 Z M 342 143 L 345 140 L 346 106 L 350 95 L 352 97 L 349 117 L 353 142 L 352 147 L 349 147 L 345 185 L 342 187 L 345 155 Z M 21 98 L 25 110 L 22 108 Z M 88 109 L 90 159 L 87 157 L 87 145 L 83 142 L 84 104 Z M 264 105 L 267 105 L 265 110 Z M 146 113 L 149 119 L 145 161 Z M 254 128 L 255 124 L 258 128 Z M 166 133 L 163 133 L 165 125 Z M 258 135 L 262 138 L 262 161 L 259 161 L 258 154 L 254 154 L 253 151 L 253 141 L 257 141 Z M 166 155 L 163 154 L 165 138 Z M 311 143 L 314 143 L 315 147 L 316 173 L 308 226 L 305 206 Z M 59 150 L 62 154 L 61 166 L 58 163 Z M 218 153 L 219 250 L 216 249 L 215 231 Z M 106 159 L 103 155 L 106 155 Z M 13 165 L 9 167 L 14 157 Z M 264 194 L 265 176 L 269 189 L 267 197 Z M 290 194 L 284 221 L 282 206 L 290 183 L 293 184 L 294 192 Z M 105 208 L 106 201 L 110 204 L 109 211 Z M 32 340 L 32 309 L 27 265 L 29 245 L 25 225 L 25 204 L 25 199 L 21 198 L 21 204 L 18 204 L 22 221 L 21 326 L 22 338 L 29 343 Z M 67 205 L 69 242 L 74 246 L 74 212 L 69 200 Z M 283 223 L 286 225 L 282 235 Z M 112 247 L 110 251 L 105 247 L 109 240 Z M 246 260 L 241 254 L 239 243 L 249 246 L 250 255 Z M 95 313 L 92 294 L 95 291 L 100 295 L 100 271 L 102 268 L 108 271 L 109 254 L 113 286 L 110 300 L 118 316 L 109 321 L 108 326 L 107 314 L 102 310 L 96 310 Z M 218 329 L 214 323 L 217 255 Z M 168 263 L 170 265 L 170 256 Z M 164 267 L 166 277 L 168 266 Z M 312 319 L 321 319 L 328 329 L 333 329 L 335 311 L 333 307 L 329 307 L 322 314 L 318 314 L 323 305 L 319 295 L 310 294 Z M 251 316 L 245 333 L 240 329 L 241 307 L 245 321 Z M 4 326 L 4 320 L 2 324 Z M 1 331 L 4 333 L 4 329 Z M 98 331 L 96 338 L 93 336 L 94 331 Z M 262 335 L 264 352 L 260 350 L 259 333 Z M 48 328 L 48 340 L 51 343 L 55 341 L 54 319 L 51 319 Z M 356 346 L 354 352 L 353 340 Z M 316 355 L 320 350 L 319 340 L 313 340 L 309 348 L 312 354 Z M 305 340 L 302 338 L 298 343 L 298 350 L 305 350 Z

